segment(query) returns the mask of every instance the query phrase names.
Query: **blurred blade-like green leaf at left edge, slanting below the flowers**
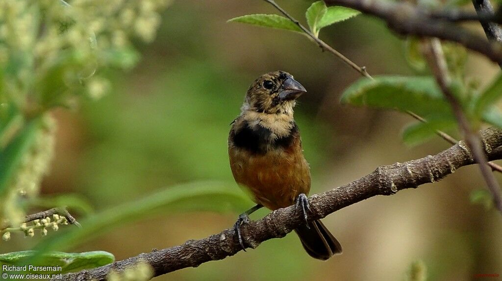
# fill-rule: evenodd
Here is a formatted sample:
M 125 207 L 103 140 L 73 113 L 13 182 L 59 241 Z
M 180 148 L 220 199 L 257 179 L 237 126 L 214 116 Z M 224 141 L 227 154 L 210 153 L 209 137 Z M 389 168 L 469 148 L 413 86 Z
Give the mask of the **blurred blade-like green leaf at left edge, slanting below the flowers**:
M 11 180 L 21 165 L 23 156 L 35 142 L 35 136 L 41 129 L 41 118 L 35 118 L 25 123 L 12 141 L 0 149 L 0 196 L 7 190 Z

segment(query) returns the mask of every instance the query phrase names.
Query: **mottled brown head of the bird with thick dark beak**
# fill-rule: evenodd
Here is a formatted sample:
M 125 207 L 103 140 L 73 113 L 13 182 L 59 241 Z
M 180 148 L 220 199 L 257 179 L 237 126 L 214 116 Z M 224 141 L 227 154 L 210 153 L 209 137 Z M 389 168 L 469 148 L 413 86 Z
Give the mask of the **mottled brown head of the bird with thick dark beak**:
M 291 74 L 284 71 L 269 72 L 249 87 L 242 111 L 293 115 L 296 98 L 306 92 Z

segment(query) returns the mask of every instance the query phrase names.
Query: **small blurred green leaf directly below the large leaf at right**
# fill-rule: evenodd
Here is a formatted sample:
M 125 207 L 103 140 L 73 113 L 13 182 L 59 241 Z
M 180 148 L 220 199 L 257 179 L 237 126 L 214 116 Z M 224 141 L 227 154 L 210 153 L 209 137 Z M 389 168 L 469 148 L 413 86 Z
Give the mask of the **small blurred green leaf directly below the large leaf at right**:
M 416 146 L 436 136 L 436 131 L 448 131 L 456 127 L 453 119 L 429 119 L 427 123 L 415 122 L 403 130 L 403 141 L 409 146 Z

